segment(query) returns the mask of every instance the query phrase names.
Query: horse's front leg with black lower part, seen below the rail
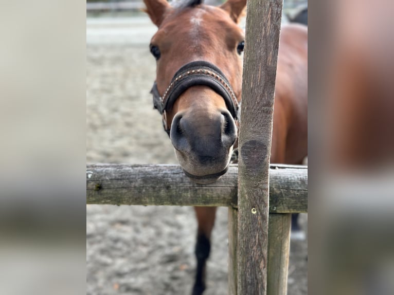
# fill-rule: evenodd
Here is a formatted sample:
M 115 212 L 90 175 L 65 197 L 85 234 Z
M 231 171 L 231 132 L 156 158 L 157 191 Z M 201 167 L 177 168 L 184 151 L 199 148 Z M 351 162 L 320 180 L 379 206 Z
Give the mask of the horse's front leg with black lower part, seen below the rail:
M 197 218 L 197 242 L 195 256 L 197 269 L 193 286 L 193 295 L 201 295 L 205 290 L 205 268 L 211 248 L 210 237 L 215 222 L 216 207 L 194 207 Z

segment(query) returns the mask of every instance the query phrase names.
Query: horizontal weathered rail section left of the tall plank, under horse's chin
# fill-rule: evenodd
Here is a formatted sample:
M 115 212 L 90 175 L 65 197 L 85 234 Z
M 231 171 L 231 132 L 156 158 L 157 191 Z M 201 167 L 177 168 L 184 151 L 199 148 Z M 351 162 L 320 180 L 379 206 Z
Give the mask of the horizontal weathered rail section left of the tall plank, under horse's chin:
M 220 181 L 203 186 L 190 181 L 179 165 L 89 165 L 86 171 L 86 202 L 236 206 L 236 177 L 236 170 L 231 169 Z

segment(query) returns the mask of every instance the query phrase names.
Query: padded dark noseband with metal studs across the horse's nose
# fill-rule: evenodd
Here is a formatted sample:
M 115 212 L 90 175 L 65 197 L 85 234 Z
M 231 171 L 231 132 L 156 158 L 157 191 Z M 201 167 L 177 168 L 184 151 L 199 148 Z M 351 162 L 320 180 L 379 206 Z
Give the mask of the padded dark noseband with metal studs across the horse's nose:
M 188 88 L 197 85 L 208 86 L 222 96 L 232 118 L 234 118 L 236 122 L 238 121 L 239 103 L 234 91 L 232 91 L 230 83 L 223 75 L 222 71 L 209 62 L 195 61 L 178 69 L 163 96 L 159 94 L 156 81 L 153 83 L 151 90 L 153 105 L 163 116 L 163 127 L 168 136 L 170 136 L 170 129 L 167 125 L 168 110 L 173 107 L 176 99 L 182 93 Z

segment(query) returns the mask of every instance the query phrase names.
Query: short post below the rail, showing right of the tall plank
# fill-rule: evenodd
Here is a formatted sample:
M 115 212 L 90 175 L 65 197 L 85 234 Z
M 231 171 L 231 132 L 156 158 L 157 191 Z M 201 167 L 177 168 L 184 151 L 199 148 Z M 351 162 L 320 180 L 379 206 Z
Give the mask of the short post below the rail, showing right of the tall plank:
M 267 294 L 286 295 L 289 269 L 291 214 L 268 218 Z

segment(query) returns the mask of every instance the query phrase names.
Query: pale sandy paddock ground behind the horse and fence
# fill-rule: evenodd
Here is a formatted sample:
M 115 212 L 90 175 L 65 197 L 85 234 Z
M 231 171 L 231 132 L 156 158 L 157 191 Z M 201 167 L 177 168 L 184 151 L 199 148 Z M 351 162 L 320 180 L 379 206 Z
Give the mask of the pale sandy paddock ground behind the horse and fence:
M 86 26 L 87 163 L 176 163 L 149 94 L 155 28 L 145 17 Z M 190 207 L 87 205 L 86 294 L 189 294 L 195 230 Z M 206 295 L 227 294 L 227 244 L 227 208 L 219 208 Z M 289 295 L 307 294 L 307 252 L 306 241 L 292 241 Z

